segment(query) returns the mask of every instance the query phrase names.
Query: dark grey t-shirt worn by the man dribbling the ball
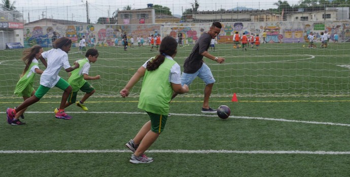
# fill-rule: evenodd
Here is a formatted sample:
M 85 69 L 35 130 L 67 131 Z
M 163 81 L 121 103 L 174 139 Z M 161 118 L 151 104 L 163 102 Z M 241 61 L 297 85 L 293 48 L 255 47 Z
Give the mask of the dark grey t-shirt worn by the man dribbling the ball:
M 192 52 L 189 57 L 186 58 L 184 63 L 184 73 L 192 74 L 197 72 L 203 64 L 203 56 L 201 53 L 207 51 L 210 46 L 212 36 L 207 32 L 204 32 L 196 41 Z

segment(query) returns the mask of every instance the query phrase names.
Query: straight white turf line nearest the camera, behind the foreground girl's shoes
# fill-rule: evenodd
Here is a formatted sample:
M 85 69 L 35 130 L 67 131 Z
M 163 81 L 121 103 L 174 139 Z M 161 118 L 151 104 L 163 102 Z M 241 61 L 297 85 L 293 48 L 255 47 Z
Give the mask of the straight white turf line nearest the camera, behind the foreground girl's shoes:
M 234 151 L 234 150 L 148 150 L 148 153 L 184 153 L 184 154 L 350 154 L 350 151 Z M 130 153 L 130 150 L 48 150 L 48 151 L 0 151 L 0 154 L 37 154 L 37 153 Z

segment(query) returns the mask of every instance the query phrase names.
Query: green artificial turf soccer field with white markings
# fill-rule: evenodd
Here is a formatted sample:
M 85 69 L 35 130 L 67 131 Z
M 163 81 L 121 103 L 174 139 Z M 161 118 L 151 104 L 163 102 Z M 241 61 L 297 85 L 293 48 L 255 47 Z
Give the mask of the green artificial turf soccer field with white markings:
M 229 106 L 231 116 L 200 113 L 204 85 L 196 79 L 189 94 L 170 103 L 164 132 L 146 152 L 155 159 L 150 164 L 129 163 L 125 148 L 149 120 L 137 109 L 141 82 L 129 98 L 118 93 L 156 52 L 148 46 L 97 47 L 100 56 L 89 74 L 101 79 L 90 82 L 96 94 L 86 102 L 88 111 L 72 105 L 66 112 L 73 119 L 54 118 L 62 93 L 52 89 L 27 109 L 26 125 L 11 126 L 5 110 L 22 102 L 13 90 L 24 65 L 21 51 L 0 51 L 0 175 L 349 176 L 350 45 L 302 45 L 242 51 L 218 44 L 209 50 L 226 58 L 221 65 L 204 59 L 217 80 L 210 105 Z M 181 66 L 191 49 L 179 48 L 175 60 Z M 73 63 L 82 55 L 72 48 L 68 57 Z M 60 76 L 67 78 L 63 71 Z M 233 93 L 238 102 L 231 101 Z

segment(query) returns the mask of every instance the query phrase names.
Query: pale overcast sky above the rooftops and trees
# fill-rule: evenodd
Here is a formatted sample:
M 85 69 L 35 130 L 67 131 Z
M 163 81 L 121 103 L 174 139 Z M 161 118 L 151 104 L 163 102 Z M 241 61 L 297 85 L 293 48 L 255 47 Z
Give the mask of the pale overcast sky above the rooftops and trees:
M 14 2 L 11 1 L 10 2 Z M 218 9 L 233 9 L 247 7 L 254 9 L 277 8 L 273 4 L 278 0 L 245 0 L 245 1 L 225 1 L 225 0 L 198 0 L 199 11 L 212 11 Z M 298 4 L 296 0 L 288 1 L 290 5 Z M 112 17 L 117 9 L 122 10 L 128 5 L 132 9 L 147 8 L 147 4 L 161 5 L 170 8 L 172 14 L 181 15 L 185 9 L 190 9 L 194 0 L 88 0 L 88 15 L 90 22 L 95 23 L 99 17 Z M 16 0 L 15 7 L 23 13 L 24 20 L 36 21 L 42 18 L 53 18 L 62 20 L 74 20 L 86 22 L 86 0 L 44 0 L 28 1 Z

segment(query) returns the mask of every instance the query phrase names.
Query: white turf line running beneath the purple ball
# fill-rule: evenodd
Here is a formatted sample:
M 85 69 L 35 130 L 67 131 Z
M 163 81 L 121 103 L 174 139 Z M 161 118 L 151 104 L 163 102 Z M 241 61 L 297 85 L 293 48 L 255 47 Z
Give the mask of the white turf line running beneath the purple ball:
M 5 113 L 5 112 L 0 112 Z M 25 113 L 38 114 L 38 113 L 53 113 L 53 112 L 34 112 L 28 111 Z M 91 113 L 91 114 L 147 114 L 145 112 L 67 112 L 67 113 Z M 180 115 L 180 116 L 196 116 L 196 117 L 218 117 L 216 114 L 177 114 L 170 113 L 170 115 Z M 311 123 L 311 124 L 323 124 L 323 125 L 339 125 L 339 126 L 350 126 L 350 124 L 345 123 L 333 123 L 333 122 L 315 122 L 315 121 L 305 121 L 305 120 L 288 120 L 288 119 L 277 119 L 277 118 L 264 118 L 264 117 L 247 117 L 247 116 L 230 116 L 230 118 L 236 119 L 258 119 L 258 120 L 273 120 L 273 121 L 283 121 L 283 122 L 298 122 L 298 123 Z

